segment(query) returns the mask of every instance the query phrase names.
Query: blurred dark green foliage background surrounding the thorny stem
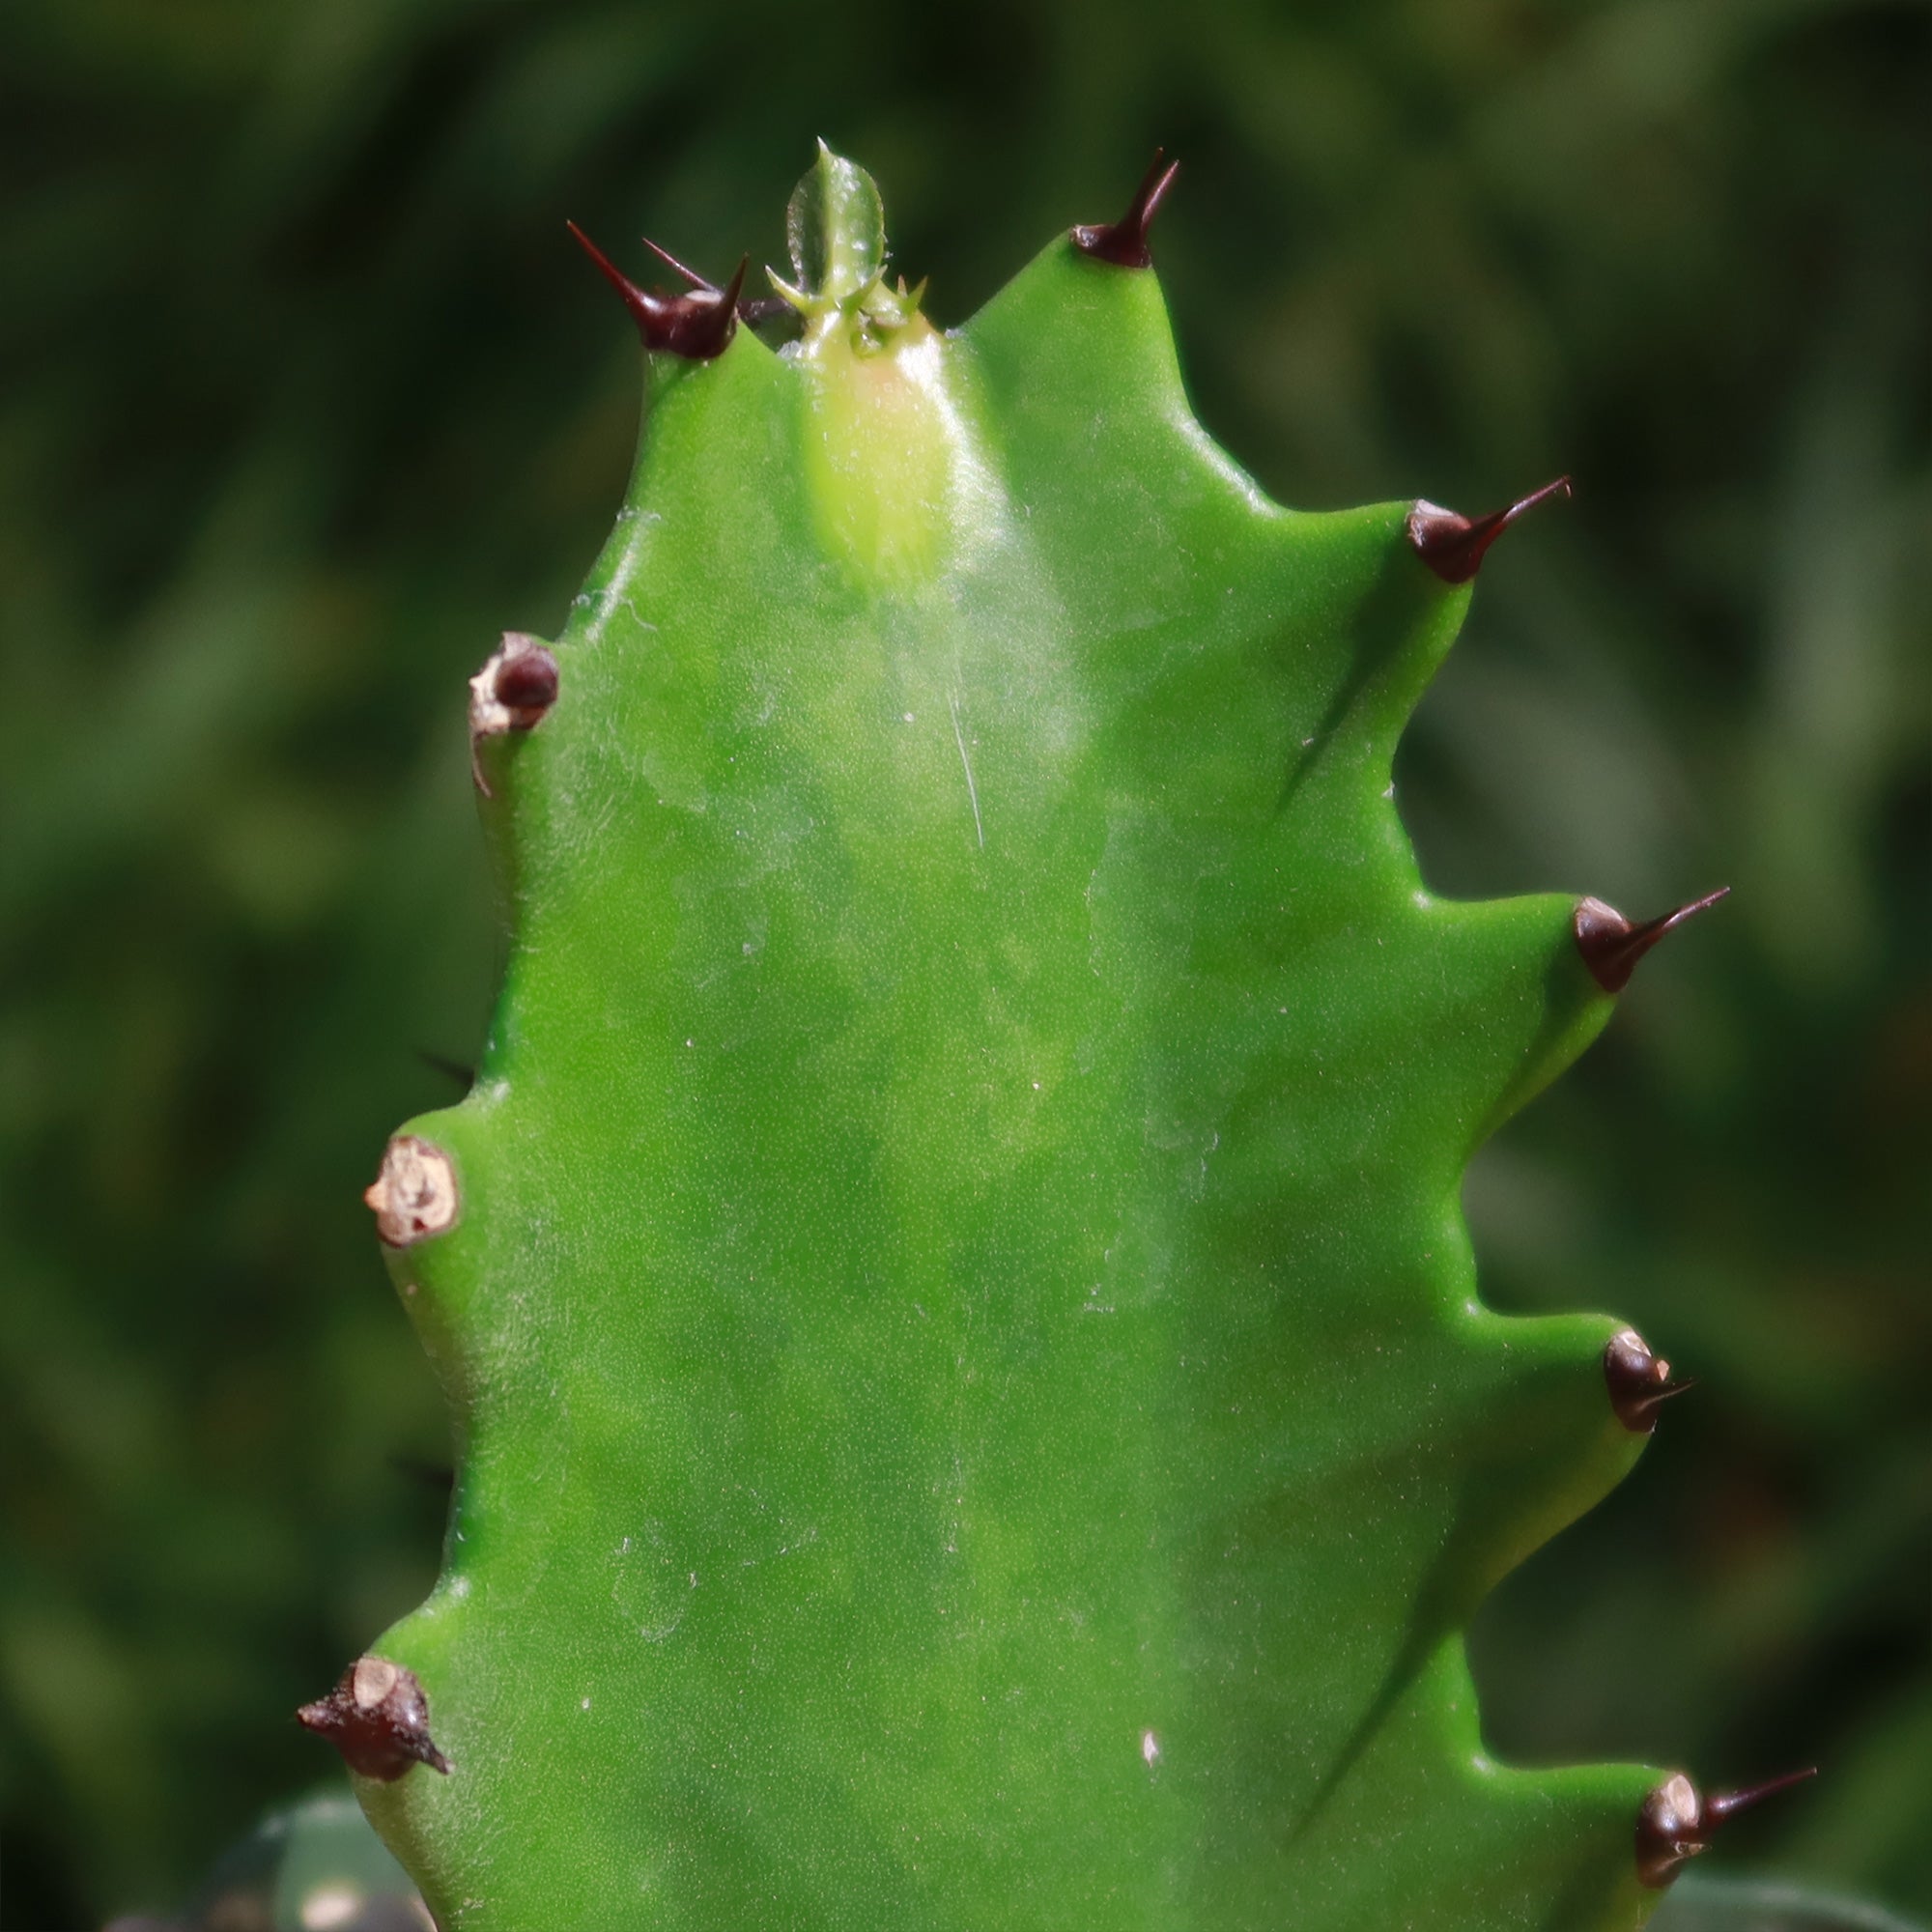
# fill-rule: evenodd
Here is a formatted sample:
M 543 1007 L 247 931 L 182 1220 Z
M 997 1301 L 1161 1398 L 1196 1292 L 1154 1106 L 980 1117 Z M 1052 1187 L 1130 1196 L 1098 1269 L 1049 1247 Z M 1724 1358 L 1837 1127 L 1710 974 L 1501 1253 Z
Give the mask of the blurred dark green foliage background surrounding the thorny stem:
M 941 321 L 1167 143 L 1289 502 L 1577 475 L 1405 752 L 1424 862 L 1737 891 L 1470 1179 L 1492 1300 L 1702 1378 L 1484 1613 L 1490 1731 L 1818 1762 L 1737 1859 L 1932 1909 L 1928 104 L 1922 0 L 0 10 L 0 1928 L 178 1901 L 435 1571 L 357 1192 L 491 995 L 462 680 L 632 444 L 564 216 L 781 261 L 817 133 Z

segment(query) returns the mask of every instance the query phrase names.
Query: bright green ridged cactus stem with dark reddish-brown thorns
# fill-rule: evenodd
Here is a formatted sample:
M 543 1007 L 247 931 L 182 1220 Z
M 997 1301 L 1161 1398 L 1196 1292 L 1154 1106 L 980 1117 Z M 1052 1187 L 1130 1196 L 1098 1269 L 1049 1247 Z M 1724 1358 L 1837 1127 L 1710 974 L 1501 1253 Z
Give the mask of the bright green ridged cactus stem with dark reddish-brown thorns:
M 1391 786 L 1567 485 L 1265 500 L 1171 180 L 952 332 L 825 151 L 782 352 L 593 249 L 636 471 L 471 686 L 504 985 L 369 1196 L 444 1569 L 303 1714 L 446 1932 L 1594 1932 L 1756 1795 L 1503 1768 L 1463 1660 L 1679 1387 L 1459 1184 L 1696 906 L 1439 900 Z

